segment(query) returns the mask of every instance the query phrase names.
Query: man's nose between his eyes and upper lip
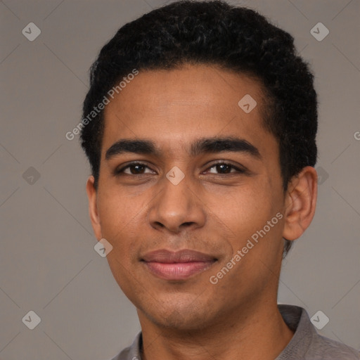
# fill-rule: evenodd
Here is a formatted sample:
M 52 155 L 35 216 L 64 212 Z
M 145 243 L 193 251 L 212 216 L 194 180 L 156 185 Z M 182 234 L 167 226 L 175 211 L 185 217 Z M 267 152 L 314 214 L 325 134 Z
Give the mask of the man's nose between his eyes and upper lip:
M 148 212 L 150 225 L 154 229 L 167 229 L 179 233 L 183 229 L 196 229 L 205 224 L 204 204 L 187 176 L 177 185 L 167 178 L 162 179 L 161 191 L 151 203 Z

